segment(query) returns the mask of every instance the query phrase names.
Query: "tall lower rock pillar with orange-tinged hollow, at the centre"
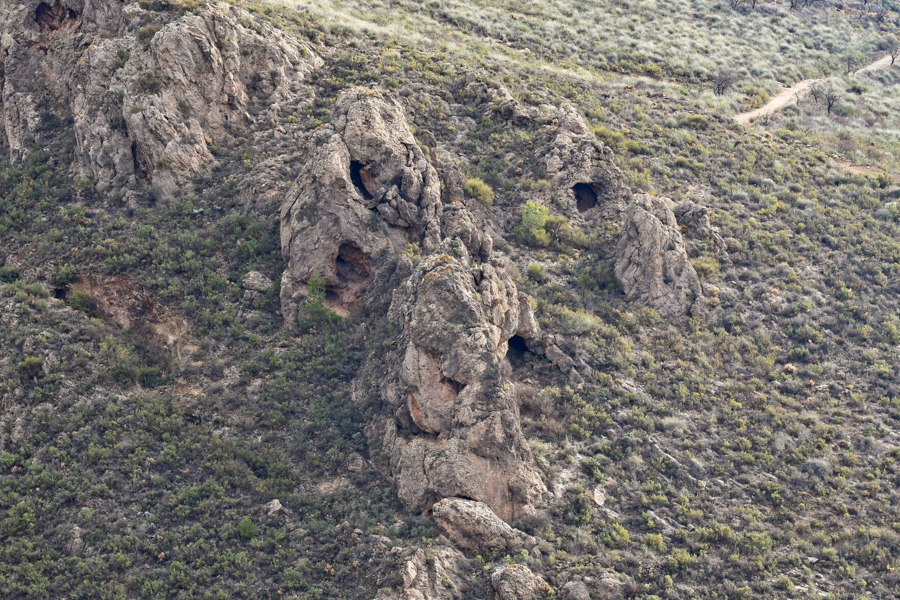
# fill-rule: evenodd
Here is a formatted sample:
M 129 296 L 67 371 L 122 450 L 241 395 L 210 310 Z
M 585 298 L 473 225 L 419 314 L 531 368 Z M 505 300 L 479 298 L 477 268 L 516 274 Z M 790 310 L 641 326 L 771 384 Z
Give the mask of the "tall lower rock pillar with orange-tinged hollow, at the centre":
M 368 433 L 408 508 L 469 497 L 509 521 L 545 492 L 500 369 L 509 338 L 532 331 L 521 313 L 502 264 L 475 264 L 459 237 L 394 291 L 388 317 L 401 336 L 382 387 L 394 416 Z

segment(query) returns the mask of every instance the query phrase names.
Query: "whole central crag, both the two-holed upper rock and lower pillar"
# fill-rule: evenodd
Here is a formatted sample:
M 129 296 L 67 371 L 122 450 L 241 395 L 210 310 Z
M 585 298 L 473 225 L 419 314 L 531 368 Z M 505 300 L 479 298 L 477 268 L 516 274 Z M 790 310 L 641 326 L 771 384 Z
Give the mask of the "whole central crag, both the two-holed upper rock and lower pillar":
M 449 158 L 440 168 L 458 175 Z M 512 336 L 537 343 L 540 333 L 482 223 L 441 196 L 400 104 L 374 90 L 341 94 L 283 205 L 282 311 L 291 323 L 313 278 L 335 310 L 390 306 L 396 349 L 374 384 L 391 413 L 366 430 L 376 463 L 410 510 L 468 497 L 509 520 L 545 486 L 500 362 Z M 425 251 L 418 265 L 410 247 Z

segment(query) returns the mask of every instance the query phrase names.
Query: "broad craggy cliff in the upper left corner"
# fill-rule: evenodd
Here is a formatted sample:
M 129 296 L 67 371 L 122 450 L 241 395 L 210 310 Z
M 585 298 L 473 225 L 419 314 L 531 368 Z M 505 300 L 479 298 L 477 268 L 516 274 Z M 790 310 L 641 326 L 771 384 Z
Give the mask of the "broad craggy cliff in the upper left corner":
M 211 148 L 258 117 L 321 64 L 311 47 L 249 13 L 211 4 L 145 24 L 139 4 L 4 3 L 0 146 L 21 156 L 41 112 L 70 118 L 77 174 L 102 192 L 188 184 Z M 40 86 L 35 81 L 40 80 Z

